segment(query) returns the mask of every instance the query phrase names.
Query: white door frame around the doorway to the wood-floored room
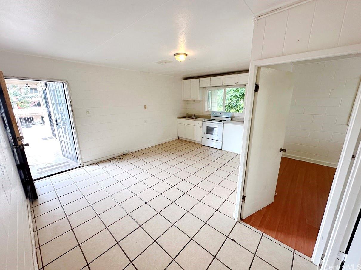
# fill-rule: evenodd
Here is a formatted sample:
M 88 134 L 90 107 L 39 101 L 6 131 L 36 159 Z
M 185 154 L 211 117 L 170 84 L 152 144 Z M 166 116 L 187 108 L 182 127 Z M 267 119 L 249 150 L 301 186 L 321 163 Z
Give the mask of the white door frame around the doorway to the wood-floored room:
M 248 77 L 248 89 L 246 93 L 246 100 L 245 100 L 245 114 L 244 114 L 244 136 L 242 141 L 242 152 L 240 156 L 240 165 L 239 165 L 239 177 L 238 177 L 238 184 L 237 184 L 237 195 L 236 195 L 236 205 L 235 205 L 235 212 L 234 217 L 236 221 L 240 220 L 241 210 L 242 210 L 242 196 L 243 196 L 243 189 L 244 189 L 244 179 L 245 179 L 245 167 L 247 161 L 247 153 L 248 153 L 248 144 L 249 144 L 249 133 L 251 130 L 251 121 L 252 121 L 252 110 L 253 110 L 253 99 L 255 94 L 255 83 L 256 83 L 256 75 L 257 75 L 257 68 L 262 66 L 270 66 L 275 64 L 283 64 L 283 63 L 290 63 L 290 62 L 297 62 L 303 60 L 312 60 L 312 59 L 319 59 L 319 58 L 326 58 L 326 57 L 335 57 L 335 56 L 343 56 L 349 54 L 358 54 L 361 53 L 361 44 L 356 45 L 349 45 L 349 46 L 342 46 L 338 48 L 331 48 L 325 50 L 318 50 L 318 51 L 311 51 L 306 53 L 299 53 L 293 55 L 285 55 L 280 57 L 268 58 L 268 59 L 261 59 L 261 60 L 251 60 L 250 67 L 249 67 L 249 77 Z M 350 118 L 351 119 L 351 118 Z M 346 138 L 349 140 L 349 138 Z M 348 141 L 345 141 L 347 144 Z M 354 149 L 352 149 L 353 151 Z M 343 150 L 344 152 L 344 150 Z M 342 163 L 341 158 L 339 161 L 339 165 Z M 343 163 L 344 164 L 344 163 Z M 346 164 L 344 164 L 346 165 Z M 348 169 L 348 166 L 347 166 Z M 342 181 L 342 179 L 341 179 Z M 323 216 L 322 223 L 325 224 L 325 220 L 334 220 L 334 217 L 337 215 L 336 208 L 330 208 L 330 202 L 339 202 L 340 200 L 340 193 L 335 194 L 334 190 L 336 189 L 336 184 L 339 186 L 340 184 L 340 177 L 334 179 L 334 183 L 331 187 L 330 197 L 327 202 L 325 214 Z M 337 204 L 336 204 L 337 205 Z M 331 234 L 332 228 L 322 228 L 323 232 L 327 232 L 327 235 Z M 318 238 L 321 235 L 321 229 L 318 234 Z M 335 236 L 338 237 L 337 235 Z M 325 245 L 318 244 L 320 243 L 317 240 L 314 253 L 312 256 L 312 262 L 318 265 L 321 261 L 321 255 L 325 250 Z

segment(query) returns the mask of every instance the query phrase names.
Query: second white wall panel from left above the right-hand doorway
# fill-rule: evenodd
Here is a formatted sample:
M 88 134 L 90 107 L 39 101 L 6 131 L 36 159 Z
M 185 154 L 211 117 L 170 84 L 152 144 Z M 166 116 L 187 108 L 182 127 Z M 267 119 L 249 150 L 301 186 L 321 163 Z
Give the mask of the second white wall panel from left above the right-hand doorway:
M 286 34 L 288 10 L 266 17 L 262 58 L 281 56 Z M 274 31 L 277 29 L 277 31 Z

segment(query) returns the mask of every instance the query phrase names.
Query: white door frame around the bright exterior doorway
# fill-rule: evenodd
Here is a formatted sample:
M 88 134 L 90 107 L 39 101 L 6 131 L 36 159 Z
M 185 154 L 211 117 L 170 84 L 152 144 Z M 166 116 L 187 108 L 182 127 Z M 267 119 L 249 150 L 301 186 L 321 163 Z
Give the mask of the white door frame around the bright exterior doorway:
M 73 106 L 71 103 L 71 93 L 69 91 L 69 83 L 66 80 L 56 80 L 56 79 L 48 79 L 48 78 L 29 78 L 29 77 L 13 77 L 13 76 L 4 76 L 5 79 L 12 79 L 12 80 L 30 80 L 30 81 L 40 81 L 40 82 L 62 82 L 64 84 L 64 91 L 65 91 L 65 98 L 66 98 L 66 105 L 69 109 L 69 115 L 70 115 L 70 123 L 71 127 L 73 128 L 73 137 L 74 137 L 74 143 L 75 143 L 75 151 L 77 152 L 78 156 L 78 163 L 80 166 L 84 165 L 80 153 L 80 146 L 79 146 L 79 140 L 78 140 L 78 133 L 75 126 L 75 118 L 74 118 L 74 112 L 73 112 Z

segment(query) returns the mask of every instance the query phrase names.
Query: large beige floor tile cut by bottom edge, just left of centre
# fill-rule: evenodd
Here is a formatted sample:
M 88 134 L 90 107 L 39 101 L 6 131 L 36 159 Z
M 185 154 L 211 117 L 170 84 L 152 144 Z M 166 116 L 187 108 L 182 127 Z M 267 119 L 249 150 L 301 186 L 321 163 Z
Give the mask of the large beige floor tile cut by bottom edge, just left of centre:
M 171 261 L 172 258 L 157 243 L 153 243 L 133 263 L 138 270 L 148 270 L 149 266 L 154 270 L 163 270 Z

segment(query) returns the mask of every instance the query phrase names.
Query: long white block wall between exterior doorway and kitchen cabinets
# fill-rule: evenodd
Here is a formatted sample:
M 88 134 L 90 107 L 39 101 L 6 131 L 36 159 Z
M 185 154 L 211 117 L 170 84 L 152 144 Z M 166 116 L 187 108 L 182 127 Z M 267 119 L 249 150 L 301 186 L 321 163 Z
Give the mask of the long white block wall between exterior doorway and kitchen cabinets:
M 4 76 L 69 82 L 83 162 L 173 139 L 187 111 L 182 78 L 1 51 L 0 59 Z

